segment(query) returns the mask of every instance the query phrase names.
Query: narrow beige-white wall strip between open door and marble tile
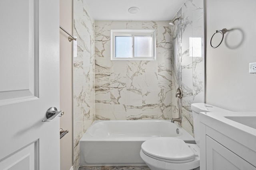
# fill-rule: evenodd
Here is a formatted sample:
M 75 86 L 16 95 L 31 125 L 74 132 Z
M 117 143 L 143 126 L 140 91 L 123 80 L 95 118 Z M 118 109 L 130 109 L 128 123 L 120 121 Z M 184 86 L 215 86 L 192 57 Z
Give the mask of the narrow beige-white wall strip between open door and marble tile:
M 72 33 L 72 0 L 60 0 L 60 25 Z M 70 170 L 73 164 L 72 111 L 72 42 L 60 29 L 60 127 L 69 132 L 60 140 L 60 169 Z

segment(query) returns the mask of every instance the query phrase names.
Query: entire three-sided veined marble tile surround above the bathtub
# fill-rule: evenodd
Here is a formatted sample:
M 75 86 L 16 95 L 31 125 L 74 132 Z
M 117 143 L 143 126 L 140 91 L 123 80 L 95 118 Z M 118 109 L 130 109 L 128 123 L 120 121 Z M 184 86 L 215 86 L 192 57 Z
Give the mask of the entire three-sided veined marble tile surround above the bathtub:
M 173 94 L 180 76 L 185 91 L 180 101 L 182 126 L 193 134 L 190 104 L 204 102 L 203 57 L 189 57 L 187 51 L 188 38 L 203 34 L 203 18 L 191 18 L 203 16 L 200 1 L 187 0 L 180 10 L 181 74 L 177 71 L 177 29 L 174 27 L 172 35 L 169 21 L 94 21 L 84 0 L 74 0 L 74 35 L 78 37 L 78 56 L 74 58 L 73 70 L 74 169 L 79 167 L 79 140 L 95 119 L 177 117 L 179 101 Z M 110 29 L 156 29 L 157 60 L 110 61 Z M 172 42 L 176 43 L 173 51 Z

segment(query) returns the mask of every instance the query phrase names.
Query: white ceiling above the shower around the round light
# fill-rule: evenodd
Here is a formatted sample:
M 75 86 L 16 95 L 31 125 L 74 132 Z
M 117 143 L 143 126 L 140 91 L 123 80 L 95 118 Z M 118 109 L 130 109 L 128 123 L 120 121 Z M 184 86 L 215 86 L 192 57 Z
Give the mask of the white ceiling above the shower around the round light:
M 172 20 L 186 0 L 85 0 L 94 20 L 166 21 Z M 130 14 L 130 7 L 138 7 Z

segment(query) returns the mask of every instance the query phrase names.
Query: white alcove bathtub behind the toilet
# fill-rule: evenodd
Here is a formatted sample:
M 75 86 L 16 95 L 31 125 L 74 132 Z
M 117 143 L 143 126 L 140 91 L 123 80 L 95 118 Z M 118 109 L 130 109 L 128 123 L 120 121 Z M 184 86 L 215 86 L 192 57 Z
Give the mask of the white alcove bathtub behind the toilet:
M 80 140 L 80 165 L 146 165 L 140 147 L 152 137 L 195 143 L 182 127 L 168 120 L 95 121 Z

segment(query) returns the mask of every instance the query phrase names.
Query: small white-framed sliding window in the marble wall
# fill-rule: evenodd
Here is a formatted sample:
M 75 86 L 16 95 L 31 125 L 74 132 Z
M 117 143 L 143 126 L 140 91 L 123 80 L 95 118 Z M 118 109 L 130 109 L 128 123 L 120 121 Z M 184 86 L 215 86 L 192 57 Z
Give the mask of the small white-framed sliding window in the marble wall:
M 112 29 L 111 60 L 156 60 L 156 31 Z

